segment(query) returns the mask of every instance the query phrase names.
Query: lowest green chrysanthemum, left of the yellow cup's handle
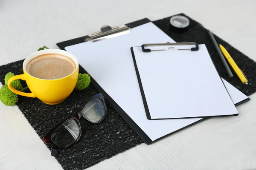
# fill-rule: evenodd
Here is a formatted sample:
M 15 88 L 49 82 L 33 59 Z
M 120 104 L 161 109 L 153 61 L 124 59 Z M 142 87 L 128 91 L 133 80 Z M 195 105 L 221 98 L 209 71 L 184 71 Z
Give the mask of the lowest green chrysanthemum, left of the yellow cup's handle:
M 12 106 L 18 101 L 18 95 L 10 91 L 7 85 L 0 88 L 0 100 L 4 105 Z

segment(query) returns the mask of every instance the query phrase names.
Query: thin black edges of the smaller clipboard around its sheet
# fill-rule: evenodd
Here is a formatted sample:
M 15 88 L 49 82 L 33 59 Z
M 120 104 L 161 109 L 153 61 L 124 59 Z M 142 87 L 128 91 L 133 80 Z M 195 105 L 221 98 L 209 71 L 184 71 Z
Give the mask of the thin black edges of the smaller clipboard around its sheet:
M 206 46 L 207 48 L 207 46 Z M 207 49 L 208 51 L 208 49 Z M 209 53 L 209 52 L 208 52 Z M 197 116 L 197 117 L 178 117 L 178 118 L 160 118 L 160 119 L 152 119 L 151 118 L 151 115 L 150 115 L 150 112 L 149 112 L 149 109 L 148 109 L 148 104 L 147 104 L 147 100 L 146 100 L 146 97 L 145 97 L 145 93 L 144 93 L 144 90 L 143 90 L 143 85 L 142 85 L 142 82 L 141 82 L 141 79 L 140 79 L 140 72 L 138 70 L 138 67 L 137 67 L 137 62 L 136 62 L 136 58 L 135 58 L 135 55 L 134 55 L 134 51 L 133 51 L 133 47 L 131 47 L 131 54 L 132 54 L 132 57 L 133 57 L 133 61 L 134 61 L 134 68 L 135 68 L 135 71 L 136 71 L 136 74 L 137 74 L 137 79 L 138 79 L 138 84 L 140 86 L 140 93 L 141 93 L 141 96 L 142 96 L 142 99 L 143 99 L 143 105 L 144 105 L 144 108 L 145 108 L 145 113 L 146 113 L 146 116 L 147 116 L 147 119 L 148 120 L 165 120 L 165 119 L 194 119 L 194 118 L 210 118 L 210 117 L 229 117 L 229 116 L 238 116 L 239 113 L 237 114 L 232 114 L 232 115 L 219 115 L 219 116 Z M 209 55 L 210 56 L 210 55 Z M 212 56 L 210 56 L 211 60 L 212 60 Z M 221 82 L 223 83 L 224 85 L 224 82 L 221 78 L 221 75 L 219 74 L 213 60 L 212 60 L 212 64 L 214 65 L 217 73 L 218 73 L 218 76 L 220 77 L 221 79 Z M 226 91 L 227 91 L 227 88 L 226 86 L 224 85 Z M 229 92 L 227 91 L 227 94 L 230 96 Z M 232 100 L 231 96 L 230 96 L 230 99 Z M 250 98 L 248 97 L 248 99 L 250 100 Z M 245 99 L 246 100 L 246 99 Z M 232 100 L 233 102 L 233 100 Z M 242 102 L 243 103 L 243 102 Z M 236 105 L 235 105 L 236 106 Z

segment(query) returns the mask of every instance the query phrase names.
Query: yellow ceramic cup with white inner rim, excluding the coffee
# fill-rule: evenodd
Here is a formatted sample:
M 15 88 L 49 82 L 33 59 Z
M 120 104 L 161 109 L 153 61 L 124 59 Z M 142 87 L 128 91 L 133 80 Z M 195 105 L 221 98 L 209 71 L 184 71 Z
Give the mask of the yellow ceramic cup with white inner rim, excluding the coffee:
M 60 79 L 40 79 L 37 77 L 33 77 L 28 73 L 28 71 L 26 71 L 27 65 L 29 61 L 31 61 L 35 57 L 44 54 L 59 54 L 69 57 L 75 63 L 76 68 L 70 75 Z M 78 73 L 79 62 L 73 54 L 59 49 L 45 49 L 29 55 L 23 62 L 23 74 L 11 77 L 8 80 L 7 85 L 9 89 L 16 94 L 26 97 L 37 97 L 46 104 L 55 105 L 63 102 L 72 93 L 76 86 Z M 11 83 L 15 79 L 25 80 L 29 90 L 32 93 L 24 93 L 12 88 Z

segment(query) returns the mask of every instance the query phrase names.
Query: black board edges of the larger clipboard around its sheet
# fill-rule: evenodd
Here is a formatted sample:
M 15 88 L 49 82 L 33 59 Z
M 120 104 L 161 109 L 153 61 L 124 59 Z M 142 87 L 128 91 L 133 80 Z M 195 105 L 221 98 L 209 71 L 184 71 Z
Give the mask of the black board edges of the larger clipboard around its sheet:
M 126 24 L 130 27 L 136 27 L 136 26 L 140 26 L 140 25 L 143 25 L 145 23 L 148 23 L 148 22 L 151 22 L 150 20 L 148 20 L 147 18 L 144 18 L 142 20 L 138 20 L 138 21 L 135 21 L 135 22 L 132 22 L 132 23 L 129 23 L 129 24 Z M 159 28 L 159 27 L 158 27 Z M 85 36 L 84 36 L 85 37 Z M 72 39 L 72 40 L 67 40 L 67 41 L 64 41 L 64 42 L 58 42 L 56 45 L 62 49 L 62 50 L 65 50 L 65 47 L 66 46 L 70 46 L 70 45 L 75 45 L 75 44 L 79 44 L 79 43 L 82 43 L 84 42 L 84 37 L 79 37 L 79 38 L 75 38 L 75 39 Z M 79 65 L 79 72 L 84 74 L 84 73 L 87 73 L 84 68 L 81 67 L 81 65 Z M 113 106 L 113 108 L 119 113 L 120 116 L 122 116 L 122 118 L 125 120 L 125 122 L 128 123 L 128 125 L 131 126 L 131 128 L 135 131 L 135 133 L 137 133 L 137 135 L 140 137 L 140 139 L 145 143 L 145 144 L 152 144 L 154 142 L 157 142 L 159 141 L 160 139 L 163 139 L 165 138 L 166 136 L 169 136 L 169 135 L 172 135 L 180 130 L 183 130 L 189 126 L 192 126 L 192 125 L 195 125 L 203 120 L 206 120 L 207 118 L 203 118 L 203 119 L 200 119 L 198 120 L 197 122 L 194 122 L 190 125 L 187 125 L 185 127 L 182 127 L 172 133 L 169 133 L 169 134 L 166 134 L 165 136 L 162 136 L 154 141 L 152 141 L 148 136 L 147 134 L 131 119 L 130 116 L 128 116 L 128 114 L 125 113 L 125 111 L 122 110 L 122 108 L 117 105 L 117 103 L 98 85 L 98 83 L 91 77 L 91 84 L 99 91 L 101 92 L 104 96 L 105 96 L 105 99 L 108 100 L 108 102 L 111 103 L 111 105 Z M 247 102 L 249 101 L 250 98 L 248 97 L 247 99 L 235 104 L 235 106 L 237 105 L 240 105 L 244 102 Z

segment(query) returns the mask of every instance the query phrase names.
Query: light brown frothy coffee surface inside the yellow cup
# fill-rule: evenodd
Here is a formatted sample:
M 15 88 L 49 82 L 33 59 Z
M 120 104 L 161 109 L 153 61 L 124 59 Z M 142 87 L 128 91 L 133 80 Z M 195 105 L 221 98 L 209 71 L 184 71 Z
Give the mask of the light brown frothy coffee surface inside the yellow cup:
M 26 71 L 39 79 L 60 79 L 73 73 L 75 62 L 61 54 L 43 54 L 30 60 Z

